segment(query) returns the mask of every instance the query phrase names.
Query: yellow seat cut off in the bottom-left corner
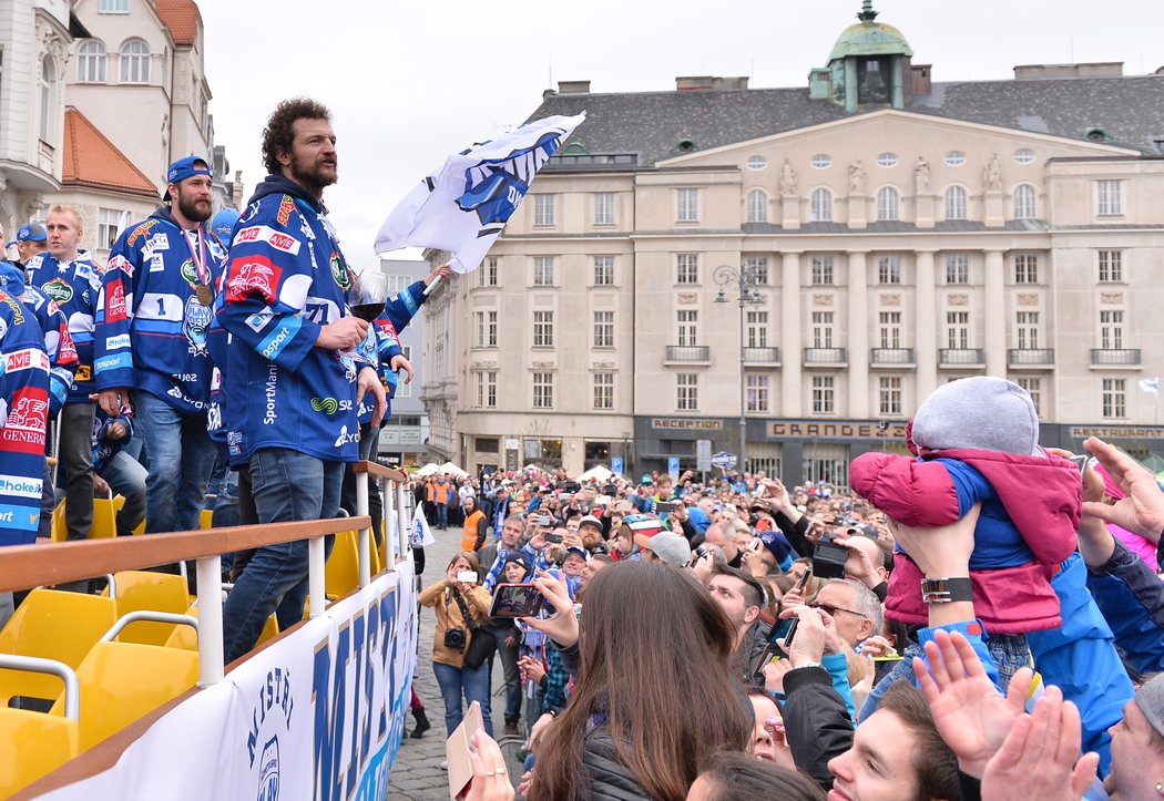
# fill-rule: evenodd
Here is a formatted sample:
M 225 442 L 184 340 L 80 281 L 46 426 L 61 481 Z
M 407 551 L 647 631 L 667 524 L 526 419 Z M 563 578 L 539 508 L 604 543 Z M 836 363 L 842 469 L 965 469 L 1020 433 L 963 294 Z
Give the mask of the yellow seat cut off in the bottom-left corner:
M 77 721 L 24 709 L 0 709 L 0 798 L 9 798 L 79 752 Z

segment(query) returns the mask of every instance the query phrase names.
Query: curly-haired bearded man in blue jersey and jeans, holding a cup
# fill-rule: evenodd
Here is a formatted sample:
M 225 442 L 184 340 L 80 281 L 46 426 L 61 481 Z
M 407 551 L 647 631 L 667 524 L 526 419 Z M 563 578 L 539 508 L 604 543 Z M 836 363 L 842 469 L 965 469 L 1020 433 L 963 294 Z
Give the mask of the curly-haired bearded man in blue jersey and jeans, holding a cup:
M 359 459 L 356 407 L 376 398 L 376 370 L 356 362 L 368 323 L 352 315 L 352 273 L 324 206 L 338 178 L 331 113 L 279 103 L 263 131 L 269 174 L 235 227 L 218 321 L 232 335 L 222 371 L 222 424 L 232 466 L 247 466 L 260 523 L 334 517 L 346 463 Z M 225 655 L 254 648 L 271 612 L 303 618 L 306 541 L 258 549 L 223 610 Z

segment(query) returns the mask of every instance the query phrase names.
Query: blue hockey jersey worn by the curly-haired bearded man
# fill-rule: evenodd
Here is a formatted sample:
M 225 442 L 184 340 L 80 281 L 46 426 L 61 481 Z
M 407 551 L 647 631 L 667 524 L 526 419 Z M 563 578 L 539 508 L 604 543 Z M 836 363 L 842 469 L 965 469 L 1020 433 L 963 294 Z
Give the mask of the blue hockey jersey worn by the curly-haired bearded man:
M 322 203 L 268 176 L 235 227 L 228 271 L 218 320 L 232 336 L 222 371 L 230 464 L 261 448 L 355 462 L 356 364 L 315 348 L 320 329 L 348 315 L 352 283 Z

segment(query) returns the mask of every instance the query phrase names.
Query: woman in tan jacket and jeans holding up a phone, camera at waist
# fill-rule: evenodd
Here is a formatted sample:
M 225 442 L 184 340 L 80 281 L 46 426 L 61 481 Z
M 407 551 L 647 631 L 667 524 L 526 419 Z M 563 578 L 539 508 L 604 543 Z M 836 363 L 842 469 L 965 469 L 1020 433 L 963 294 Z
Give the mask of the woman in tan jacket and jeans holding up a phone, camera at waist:
M 433 635 L 433 674 L 445 699 L 445 728 L 448 735 L 461 725 L 464 717 L 461 698 L 467 703 L 481 703 L 485 731 L 492 736 L 494 723 L 489 709 L 489 661 L 478 667 L 464 664 L 473 630 L 489 622 L 492 599 L 481 586 L 477 558 L 470 552 L 455 553 L 445 568 L 445 578 L 426 587 L 417 599 L 423 607 L 436 613 Z M 471 617 L 473 624 L 466 620 Z

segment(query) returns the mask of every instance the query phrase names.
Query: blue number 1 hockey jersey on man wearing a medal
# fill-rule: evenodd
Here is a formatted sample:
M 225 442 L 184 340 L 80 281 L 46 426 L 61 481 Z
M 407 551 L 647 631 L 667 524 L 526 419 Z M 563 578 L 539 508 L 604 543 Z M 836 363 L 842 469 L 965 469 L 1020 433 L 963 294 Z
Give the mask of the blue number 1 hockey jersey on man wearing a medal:
M 97 312 L 98 389 L 133 387 L 183 414 L 206 412 L 213 308 L 197 289 L 217 285 L 225 260 L 213 233 L 184 230 L 164 206 L 118 237 Z

